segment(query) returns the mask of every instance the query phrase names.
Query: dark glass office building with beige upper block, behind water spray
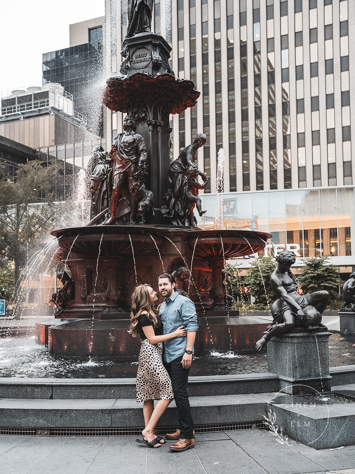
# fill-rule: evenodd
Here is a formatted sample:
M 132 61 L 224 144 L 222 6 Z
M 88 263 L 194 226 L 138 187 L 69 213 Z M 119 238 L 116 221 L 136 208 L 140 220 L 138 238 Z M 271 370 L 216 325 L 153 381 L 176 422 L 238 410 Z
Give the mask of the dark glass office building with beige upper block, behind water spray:
M 104 18 L 70 25 L 70 46 L 43 54 L 43 83 L 58 82 L 73 95 L 74 107 L 87 118 L 88 127 L 103 136 Z

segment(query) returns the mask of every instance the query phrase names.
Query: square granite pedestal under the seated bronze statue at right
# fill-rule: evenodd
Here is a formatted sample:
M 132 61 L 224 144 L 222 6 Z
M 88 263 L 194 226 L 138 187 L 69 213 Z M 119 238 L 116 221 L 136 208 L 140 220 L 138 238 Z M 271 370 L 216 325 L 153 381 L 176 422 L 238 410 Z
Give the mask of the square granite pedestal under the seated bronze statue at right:
M 279 376 L 281 392 L 298 395 L 314 390 L 330 391 L 328 346 L 331 333 L 326 328 L 315 331 L 316 334 L 295 328 L 267 343 L 268 370 Z

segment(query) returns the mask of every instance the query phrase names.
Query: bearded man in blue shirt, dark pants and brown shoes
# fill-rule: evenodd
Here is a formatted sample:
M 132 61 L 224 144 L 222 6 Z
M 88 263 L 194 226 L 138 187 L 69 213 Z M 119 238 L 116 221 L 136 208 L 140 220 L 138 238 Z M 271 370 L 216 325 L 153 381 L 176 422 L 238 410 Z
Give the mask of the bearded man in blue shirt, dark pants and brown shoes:
M 172 451 L 185 451 L 194 447 L 195 432 L 187 394 L 187 383 L 193 356 L 193 344 L 198 330 L 196 309 L 193 302 L 175 292 L 175 279 L 163 273 L 158 280 L 159 292 L 164 301 L 159 308 L 163 323 L 163 334 L 169 334 L 184 326 L 187 337 L 175 337 L 164 342 L 164 365 L 173 383 L 174 400 L 179 412 L 179 425 L 175 433 L 167 433 L 166 438 L 176 439 L 169 446 Z

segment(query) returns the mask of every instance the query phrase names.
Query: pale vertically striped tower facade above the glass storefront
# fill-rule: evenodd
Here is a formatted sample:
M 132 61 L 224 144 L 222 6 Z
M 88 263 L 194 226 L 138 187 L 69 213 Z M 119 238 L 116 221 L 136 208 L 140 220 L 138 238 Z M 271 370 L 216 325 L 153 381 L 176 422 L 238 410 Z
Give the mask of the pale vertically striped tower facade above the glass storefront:
M 196 131 L 207 135 L 205 192 L 216 191 L 221 147 L 225 191 L 355 182 L 350 0 L 172 5 L 173 70 L 201 91 L 200 105 L 173 118 L 174 156 Z

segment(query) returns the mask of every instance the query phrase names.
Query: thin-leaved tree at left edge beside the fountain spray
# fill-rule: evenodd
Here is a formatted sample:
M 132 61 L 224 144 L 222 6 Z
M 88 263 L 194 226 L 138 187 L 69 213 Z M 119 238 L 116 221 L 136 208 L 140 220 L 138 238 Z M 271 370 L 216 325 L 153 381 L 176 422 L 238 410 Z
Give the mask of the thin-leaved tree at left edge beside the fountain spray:
M 0 167 L 1 268 L 12 275 L 15 292 L 29 250 L 52 227 L 55 204 L 50 190 L 57 169 L 55 164 L 33 160 L 19 164 L 16 176 L 10 177 Z

